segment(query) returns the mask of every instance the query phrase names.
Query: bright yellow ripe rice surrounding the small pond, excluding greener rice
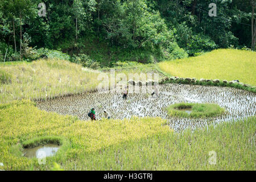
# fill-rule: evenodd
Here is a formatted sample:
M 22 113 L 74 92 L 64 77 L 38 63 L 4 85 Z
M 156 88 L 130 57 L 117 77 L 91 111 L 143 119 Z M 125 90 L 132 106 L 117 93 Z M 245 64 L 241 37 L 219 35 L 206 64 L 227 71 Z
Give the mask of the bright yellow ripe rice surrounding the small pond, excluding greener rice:
M 109 146 L 172 132 L 166 121 L 160 118 L 80 121 L 76 117 L 39 110 L 26 100 L 0 105 L 0 131 L 0 161 L 5 170 L 30 169 L 31 166 L 34 169 L 50 169 L 52 162 L 72 169 L 77 161 L 82 162 L 87 155 Z M 71 146 L 65 154 L 59 152 L 59 155 L 48 158 L 47 164 L 41 166 L 38 160 L 24 158 L 16 155 L 19 152 L 13 151 L 24 140 L 42 136 L 65 137 Z M 108 163 L 108 160 L 105 162 Z M 90 168 L 90 165 L 85 165 L 86 168 Z

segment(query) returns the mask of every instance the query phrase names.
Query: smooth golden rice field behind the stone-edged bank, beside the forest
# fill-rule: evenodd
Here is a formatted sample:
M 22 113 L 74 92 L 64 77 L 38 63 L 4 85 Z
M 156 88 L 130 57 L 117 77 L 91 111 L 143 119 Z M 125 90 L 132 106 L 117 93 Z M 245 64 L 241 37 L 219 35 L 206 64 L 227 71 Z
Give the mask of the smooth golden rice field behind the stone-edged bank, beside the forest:
M 217 49 L 196 57 L 163 61 L 160 69 L 177 77 L 239 80 L 256 85 L 256 52 Z

